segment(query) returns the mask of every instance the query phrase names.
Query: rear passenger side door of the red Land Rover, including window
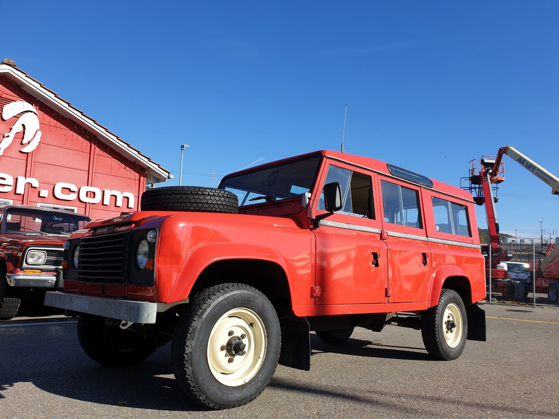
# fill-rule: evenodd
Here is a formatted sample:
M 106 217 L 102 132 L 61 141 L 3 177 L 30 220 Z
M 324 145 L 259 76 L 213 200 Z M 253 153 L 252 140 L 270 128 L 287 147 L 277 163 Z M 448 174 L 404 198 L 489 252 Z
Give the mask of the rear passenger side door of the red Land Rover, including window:
M 432 254 L 427 246 L 421 188 L 381 175 L 378 179 L 388 246 L 389 302 L 427 301 Z

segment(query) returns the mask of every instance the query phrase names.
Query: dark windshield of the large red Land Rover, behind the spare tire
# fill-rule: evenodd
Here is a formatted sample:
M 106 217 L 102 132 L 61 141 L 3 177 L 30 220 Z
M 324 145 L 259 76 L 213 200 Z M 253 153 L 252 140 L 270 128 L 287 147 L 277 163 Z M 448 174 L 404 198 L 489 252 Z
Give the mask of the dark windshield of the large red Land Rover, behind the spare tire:
M 236 194 L 240 207 L 297 198 L 312 188 L 321 157 L 315 155 L 253 172 L 230 175 L 222 180 L 220 188 Z

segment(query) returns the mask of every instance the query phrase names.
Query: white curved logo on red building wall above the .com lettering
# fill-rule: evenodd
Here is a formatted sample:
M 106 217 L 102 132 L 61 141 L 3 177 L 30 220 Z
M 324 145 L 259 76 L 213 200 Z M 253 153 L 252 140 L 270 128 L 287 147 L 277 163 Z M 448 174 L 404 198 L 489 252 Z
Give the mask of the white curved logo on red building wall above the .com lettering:
M 17 101 L 6 104 L 2 109 L 2 120 L 7 121 L 16 115 L 20 115 L 20 113 L 23 113 L 23 115 L 17 118 L 16 122 L 10 128 L 10 131 L 6 132 L 2 141 L 0 141 L 0 155 L 12 144 L 13 137 L 23 130 L 25 130 L 25 132 L 23 133 L 23 140 L 21 142 L 27 145 L 21 149 L 22 153 L 31 153 L 31 151 L 37 148 L 39 141 L 41 141 L 37 109 L 30 103 Z

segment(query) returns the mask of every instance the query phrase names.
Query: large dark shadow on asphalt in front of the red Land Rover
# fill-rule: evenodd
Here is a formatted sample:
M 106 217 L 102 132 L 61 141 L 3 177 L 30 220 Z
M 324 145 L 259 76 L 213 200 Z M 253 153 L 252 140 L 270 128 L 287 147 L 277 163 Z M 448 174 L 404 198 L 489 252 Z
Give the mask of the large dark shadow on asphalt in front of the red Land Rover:
M 78 354 L 77 348 L 72 356 Z M 173 377 L 170 345 L 159 348 L 141 364 L 109 368 L 87 356 L 54 359 L 26 356 L 25 370 L 8 366 L 0 379 L 0 399 L 13 383 L 32 382 L 37 388 L 84 402 L 170 411 L 206 411 L 190 401 Z M 168 377 L 166 377 L 168 376 Z

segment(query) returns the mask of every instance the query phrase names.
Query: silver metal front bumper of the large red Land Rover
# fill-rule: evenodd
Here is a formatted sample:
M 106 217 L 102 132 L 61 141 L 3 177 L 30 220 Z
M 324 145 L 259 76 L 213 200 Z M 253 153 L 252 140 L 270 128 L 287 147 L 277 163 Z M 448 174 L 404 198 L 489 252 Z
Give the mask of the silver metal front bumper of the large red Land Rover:
M 157 315 L 157 303 L 53 291 L 45 294 L 45 306 L 134 323 L 155 323 Z

